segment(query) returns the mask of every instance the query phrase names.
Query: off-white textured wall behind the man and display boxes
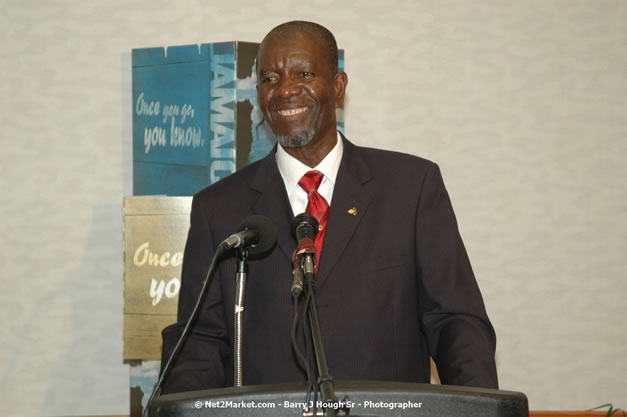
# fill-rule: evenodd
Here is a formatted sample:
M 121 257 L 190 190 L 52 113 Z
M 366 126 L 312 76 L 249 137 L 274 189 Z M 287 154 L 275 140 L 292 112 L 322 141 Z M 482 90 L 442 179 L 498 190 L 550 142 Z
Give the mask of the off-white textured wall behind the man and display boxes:
M 346 129 L 437 161 L 532 409 L 627 407 L 627 2 L 0 0 L 1 416 L 128 413 L 131 48 L 346 51 Z

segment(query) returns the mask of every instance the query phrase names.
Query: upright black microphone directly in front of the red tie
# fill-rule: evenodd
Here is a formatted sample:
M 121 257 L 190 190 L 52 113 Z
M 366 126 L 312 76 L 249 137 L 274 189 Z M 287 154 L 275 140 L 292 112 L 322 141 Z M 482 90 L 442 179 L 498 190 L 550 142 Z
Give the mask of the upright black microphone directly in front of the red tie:
M 290 227 L 292 234 L 296 236 L 298 241 L 298 246 L 292 255 L 294 280 L 291 290 L 292 295 L 298 297 L 303 292 L 303 278 L 313 278 L 315 273 L 316 246 L 314 245 L 314 237 L 318 233 L 318 220 L 311 214 L 301 213 L 292 219 Z

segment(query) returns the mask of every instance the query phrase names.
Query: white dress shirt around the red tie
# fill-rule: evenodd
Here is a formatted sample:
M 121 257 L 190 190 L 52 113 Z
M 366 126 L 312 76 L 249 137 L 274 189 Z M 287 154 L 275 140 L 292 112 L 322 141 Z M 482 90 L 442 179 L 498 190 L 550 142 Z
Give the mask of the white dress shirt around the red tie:
M 276 162 L 283 182 L 285 183 L 285 189 L 287 190 L 287 196 L 290 200 L 294 215 L 304 213 L 307 208 L 309 197 L 307 196 L 307 192 L 298 185 L 298 181 L 300 181 L 307 171 L 320 171 L 324 175 L 320 187 L 318 187 L 318 193 L 327 200 L 329 207 L 331 206 L 333 188 L 335 187 L 337 171 L 340 169 L 343 151 L 344 145 L 342 144 L 342 139 L 338 132 L 337 143 L 333 149 L 331 149 L 331 152 L 329 152 L 318 165 L 314 168 L 310 168 L 288 154 L 280 144 L 277 146 Z

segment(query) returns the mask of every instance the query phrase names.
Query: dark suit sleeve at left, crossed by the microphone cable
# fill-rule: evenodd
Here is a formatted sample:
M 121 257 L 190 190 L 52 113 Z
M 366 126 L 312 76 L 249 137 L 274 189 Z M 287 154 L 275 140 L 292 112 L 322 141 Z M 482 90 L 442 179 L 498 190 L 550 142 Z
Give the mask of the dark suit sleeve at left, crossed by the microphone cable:
M 162 370 L 192 313 L 215 250 L 206 219 L 207 212 L 200 199 L 194 197 L 183 258 L 178 321 L 162 332 Z M 229 363 L 230 356 L 222 289 L 219 272 L 216 272 L 191 332 L 164 380 L 162 393 L 225 386 L 225 364 Z

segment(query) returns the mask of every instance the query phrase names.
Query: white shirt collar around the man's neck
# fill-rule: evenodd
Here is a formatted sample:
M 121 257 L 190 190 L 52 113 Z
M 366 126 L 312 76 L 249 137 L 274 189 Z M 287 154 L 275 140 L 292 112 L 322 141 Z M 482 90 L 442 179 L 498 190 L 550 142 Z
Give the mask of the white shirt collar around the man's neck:
M 344 151 L 344 145 L 340 133 L 337 133 L 337 142 L 331 151 L 320 161 L 314 168 L 310 168 L 307 165 L 288 154 L 283 146 L 280 144 L 277 146 L 276 162 L 279 167 L 283 182 L 285 182 L 285 189 L 288 195 L 294 190 L 298 181 L 302 178 L 307 171 L 316 170 L 324 174 L 324 180 L 328 180 L 332 185 L 335 185 L 337 178 L 337 172 L 340 169 L 340 162 L 342 162 L 342 153 Z

